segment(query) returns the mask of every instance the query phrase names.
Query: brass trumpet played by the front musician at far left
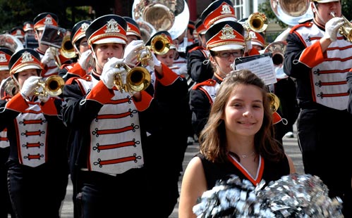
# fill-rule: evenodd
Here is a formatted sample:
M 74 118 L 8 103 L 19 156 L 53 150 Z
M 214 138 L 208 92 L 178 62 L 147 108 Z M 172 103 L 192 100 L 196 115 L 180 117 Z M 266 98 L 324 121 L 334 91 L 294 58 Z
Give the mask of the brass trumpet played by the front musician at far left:
M 62 77 L 52 75 L 44 81 L 40 79 L 34 94 L 36 96 L 59 96 L 62 93 L 62 87 L 65 84 Z

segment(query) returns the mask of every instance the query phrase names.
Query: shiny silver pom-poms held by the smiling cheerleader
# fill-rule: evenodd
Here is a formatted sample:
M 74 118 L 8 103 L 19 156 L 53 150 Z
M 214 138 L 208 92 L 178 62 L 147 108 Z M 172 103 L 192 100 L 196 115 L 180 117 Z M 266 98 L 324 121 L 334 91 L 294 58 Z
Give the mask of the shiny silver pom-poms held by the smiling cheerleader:
M 290 174 L 253 186 L 231 175 L 205 191 L 193 212 L 205 217 L 344 217 L 340 198 L 331 199 L 319 177 Z

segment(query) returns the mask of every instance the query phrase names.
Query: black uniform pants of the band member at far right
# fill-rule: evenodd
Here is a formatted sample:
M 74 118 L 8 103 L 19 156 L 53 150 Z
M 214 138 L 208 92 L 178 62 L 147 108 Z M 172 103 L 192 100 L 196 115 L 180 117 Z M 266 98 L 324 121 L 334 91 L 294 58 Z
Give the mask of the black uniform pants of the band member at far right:
M 303 109 L 297 120 L 298 144 L 306 174 L 320 177 L 329 197 L 344 202 L 344 216 L 351 217 L 352 115 L 346 110 L 320 106 Z

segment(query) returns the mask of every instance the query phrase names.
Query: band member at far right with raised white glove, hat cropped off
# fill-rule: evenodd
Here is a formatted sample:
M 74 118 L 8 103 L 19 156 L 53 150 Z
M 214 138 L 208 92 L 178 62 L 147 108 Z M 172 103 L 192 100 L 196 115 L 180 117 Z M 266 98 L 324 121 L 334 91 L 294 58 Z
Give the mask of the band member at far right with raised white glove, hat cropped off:
M 284 72 L 296 79 L 304 171 L 320 177 L 329 197 L 343 201 L 344 217 L 352 217 L 352 115 L 346 84 L 352 44 L 339 31 L 348 23 L 341 7 L 340 0 L 311 0 L 314 18 L 292 27 L 286 38 Z

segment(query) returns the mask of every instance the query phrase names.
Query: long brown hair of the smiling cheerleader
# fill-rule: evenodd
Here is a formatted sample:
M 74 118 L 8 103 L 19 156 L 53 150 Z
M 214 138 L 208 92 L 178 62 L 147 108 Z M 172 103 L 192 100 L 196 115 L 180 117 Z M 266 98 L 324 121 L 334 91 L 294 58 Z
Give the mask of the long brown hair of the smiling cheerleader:
M 284 150 L 279 142 L 274 139 L 274 127 L 272 122 L 272 110 L 267 96 L 267 86 L 250 70 L 236 70 L 230 72 L 221 83 L 217 91 L 217 97 L 210 110 L 209 119 L 205 128 L 200 133 L 200 153 L 212 162 L 226 162 L 226 130 L 222 115 L 231 91 L 238 84 L 254 85 L 260 88 L 263 96 L 264 117 L 262 127 L 255 134 L 255 151 L 269 160 L 279 160 L 284 157 Z

